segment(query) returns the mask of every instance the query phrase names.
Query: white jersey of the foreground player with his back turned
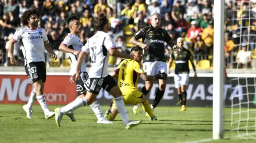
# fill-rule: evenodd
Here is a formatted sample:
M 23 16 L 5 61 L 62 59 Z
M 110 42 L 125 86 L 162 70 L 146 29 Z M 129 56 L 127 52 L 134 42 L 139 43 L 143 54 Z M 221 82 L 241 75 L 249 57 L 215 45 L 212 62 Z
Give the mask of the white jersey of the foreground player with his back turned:
M 98 31 L 94 36 L 89 38 L 82 51 L 90 53 L 91 68 L 89 71 L 90 78 L 101 78 L 109 75 L 109 51 L 117 48 L 109 34 Z

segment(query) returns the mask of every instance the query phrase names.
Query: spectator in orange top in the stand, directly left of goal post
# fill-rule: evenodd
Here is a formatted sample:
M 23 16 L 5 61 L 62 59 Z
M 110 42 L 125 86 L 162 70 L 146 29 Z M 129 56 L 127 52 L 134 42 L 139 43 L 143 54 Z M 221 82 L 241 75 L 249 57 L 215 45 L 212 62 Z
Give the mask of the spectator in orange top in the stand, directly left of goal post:
M 213 54 L 213 21 L 203 30 L 202 40 L 205 43 L 205 55 Z

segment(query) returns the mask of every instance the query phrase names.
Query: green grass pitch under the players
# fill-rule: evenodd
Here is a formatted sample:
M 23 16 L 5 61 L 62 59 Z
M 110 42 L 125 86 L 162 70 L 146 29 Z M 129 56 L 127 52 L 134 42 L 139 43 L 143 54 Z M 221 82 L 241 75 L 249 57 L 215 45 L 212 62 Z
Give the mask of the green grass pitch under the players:
M 48 107 L 53 111 L 61 106 Z M 102 106 L 103 113 L 107 108 Z M 75 111 L 76 122 L 64 116 L 59 128 L 54 118 L 44 119 L 39 105 L 33 106 L 32 120 L 26 118 L 22 105 L 0 105 L 0 142 L 255 142 L 230 138 L 211 140 L 212 108 L 187 107 L 187 111 L 180 112 L 179 107 L 157 107 L 154 113 L 158 121 L 149 121 L 142 108 L 138 115 L 133 114 L 132 106 L 126 109 L 131 120 L 142 120 L 142 124 L 127 130 L 120 115 L 114 124 L 97 124 L 90 107 L 83 107 Z M 225 137 L 237 133 L 229 131 L 230 113 L 231 109 L 225 109 Z M 255 111 L 249 114 L 255 118 Z M 240 124 L 245 125 L 255 126 L 255 120 Z M 248 129 L 255 133 L 255 128 Z

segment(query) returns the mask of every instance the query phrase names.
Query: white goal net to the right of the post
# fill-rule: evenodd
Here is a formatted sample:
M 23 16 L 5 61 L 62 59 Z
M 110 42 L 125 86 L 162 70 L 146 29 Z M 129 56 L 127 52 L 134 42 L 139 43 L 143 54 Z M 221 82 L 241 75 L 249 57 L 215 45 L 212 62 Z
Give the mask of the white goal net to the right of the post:
M 256 139 L 256 3 L 226 0 L 225 137 Z M 234 44 L 234 45 L 232 45 Z M 228 87 L 227 87 L 228 88 Z M 225 95 L 225 94 L 224 94 Z M 229 122 L 231 121 L 231 123 Z M 227 131 L 227 130 L 226 130 Z

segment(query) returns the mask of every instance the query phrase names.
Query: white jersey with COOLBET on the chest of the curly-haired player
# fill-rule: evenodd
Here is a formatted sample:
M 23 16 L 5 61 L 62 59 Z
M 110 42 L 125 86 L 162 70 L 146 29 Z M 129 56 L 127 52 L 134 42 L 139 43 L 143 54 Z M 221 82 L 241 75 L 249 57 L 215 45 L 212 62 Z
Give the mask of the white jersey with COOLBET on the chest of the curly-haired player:
M 18 29 L 11 39 L 15 42 L 20 40 L 25 66 L 32 61 L 44 62 L 44 42 L 49 41 L 43 28 L 32 30 L 23 27 Z

